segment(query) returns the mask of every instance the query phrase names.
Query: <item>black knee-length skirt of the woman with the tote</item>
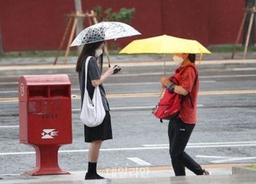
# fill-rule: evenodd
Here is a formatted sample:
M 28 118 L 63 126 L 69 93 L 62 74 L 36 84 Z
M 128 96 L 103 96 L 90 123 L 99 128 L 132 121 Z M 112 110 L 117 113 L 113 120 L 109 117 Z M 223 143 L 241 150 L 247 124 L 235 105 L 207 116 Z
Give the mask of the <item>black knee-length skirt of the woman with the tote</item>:
M 105 141 L 112 138 L 111 118 L 108 110 L 106 110 L 106 116 L 99 126 L 88 127 L 85 125 L 85 142 Z

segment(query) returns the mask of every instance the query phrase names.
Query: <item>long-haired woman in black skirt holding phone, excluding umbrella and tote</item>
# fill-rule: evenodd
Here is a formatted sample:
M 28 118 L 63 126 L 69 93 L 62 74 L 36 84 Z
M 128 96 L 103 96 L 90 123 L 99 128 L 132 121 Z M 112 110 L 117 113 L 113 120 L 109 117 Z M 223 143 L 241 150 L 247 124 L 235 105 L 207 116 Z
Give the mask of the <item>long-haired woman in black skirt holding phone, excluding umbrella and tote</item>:
M 85 89 L 85 62 L 86 58 L 92 56 L 88 63 L 88 74 L 87 74 L 87 86 L 86 89 L 90 98 L 93 98 L 94 87 L 99 86 L 100 93 L 102 95 L 102 103 L 106 110 L 106 116 L 99 126 L 89 127 L 84 125 L 85 142 L 90 142 L 89 149 L 89 162 L 88 172 L 86 173 L 86 179 L 102 179 L 102 176 L 97 174 L 97 162 L 99 149 L 102 145 L 102 141 L 112 139 L 112 128 L 110 119 L 110 107 L 106 99 L 106 93 L 102 83 L 106 78 L 114 74 L 114 69 L 109 68 L 104 74 L 101 75 L 98 60 L 102 61 L 102 50 L 104 42 L 93 42 L 86 44 L 82 48 L 82 52 L 78 58 L 76 71 L 79 74 L 79 83 L 81 89 L 81 99 L 83 100 L 84 89 Z

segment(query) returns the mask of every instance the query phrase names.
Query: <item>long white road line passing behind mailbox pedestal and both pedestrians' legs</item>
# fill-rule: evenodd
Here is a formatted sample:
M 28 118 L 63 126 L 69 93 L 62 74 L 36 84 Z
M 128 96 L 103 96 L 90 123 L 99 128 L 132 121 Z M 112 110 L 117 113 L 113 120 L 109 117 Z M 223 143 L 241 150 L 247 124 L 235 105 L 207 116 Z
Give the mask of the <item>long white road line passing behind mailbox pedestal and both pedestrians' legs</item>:
M 214 147 L 242 147 L 242 146 L 256 146 L 255 144 L 219 144 L 219 145 L 194 145 L 194 146 L 186 146 L 186 148 L 214 148 Z M 169 149 L 169 146 L 150 146 L 150 147 L 124 147 L 124 148 L 103 148 L 101 151 L 122 151 L 122 150 L 166 150 Z M 88 150 L 59 150 L 58 153 L 81 153 L 88 152 Z M 27 152 L 6 152 L 0 153 L 0 156 L 8 156 L 8 155 L 19 155 L 19 154 L 34 154 L 34 151 Z

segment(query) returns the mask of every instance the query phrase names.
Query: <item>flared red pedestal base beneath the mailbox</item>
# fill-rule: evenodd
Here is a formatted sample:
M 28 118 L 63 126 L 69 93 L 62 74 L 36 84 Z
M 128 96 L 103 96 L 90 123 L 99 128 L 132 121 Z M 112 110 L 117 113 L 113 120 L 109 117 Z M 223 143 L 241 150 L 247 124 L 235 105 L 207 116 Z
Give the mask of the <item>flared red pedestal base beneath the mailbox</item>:
M 26 172 L 26 174 L 35 175 L 50 175 L 50 174 L 70 174 L 62 170 L 58 166 L 58 149 L 59 145 L 40 145 L 35 146 L 36 152 L 36 167 L 34 170 Z

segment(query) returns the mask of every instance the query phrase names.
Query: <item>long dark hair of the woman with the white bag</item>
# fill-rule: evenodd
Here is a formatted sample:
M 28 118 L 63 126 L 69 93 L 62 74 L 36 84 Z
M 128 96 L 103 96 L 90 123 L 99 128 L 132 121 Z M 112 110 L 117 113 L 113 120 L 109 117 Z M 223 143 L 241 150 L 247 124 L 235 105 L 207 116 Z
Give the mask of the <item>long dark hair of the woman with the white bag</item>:
M 82 64 L 85 61 L 84 58 L 87 58 L 88 56 L 94 56 L 95 55 L 95 50 L 100 46 L 103 42 L 93 42 L 93 43 L 88 43 L 82 47 L 82 51 L 78 57 L 78 62 L 75 70 L 77 72 L 82 71 Z M 103 54 L 99 57 L 100 60 L 100 67 L 101 67 L 101 72 L 102 72 L 102 64 L 103 64 Z

